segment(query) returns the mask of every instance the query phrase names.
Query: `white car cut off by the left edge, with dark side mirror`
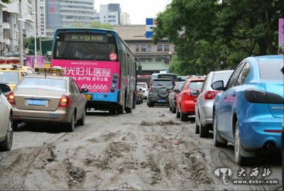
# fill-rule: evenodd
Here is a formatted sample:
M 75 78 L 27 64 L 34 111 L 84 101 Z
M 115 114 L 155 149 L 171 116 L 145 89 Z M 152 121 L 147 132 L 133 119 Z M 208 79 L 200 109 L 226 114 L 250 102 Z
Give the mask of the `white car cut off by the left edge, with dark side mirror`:
M 0 84 L 0 151 L 10 151 L 13 143 L 12 107 L 4 96 L 10 91 L 7 84 Z

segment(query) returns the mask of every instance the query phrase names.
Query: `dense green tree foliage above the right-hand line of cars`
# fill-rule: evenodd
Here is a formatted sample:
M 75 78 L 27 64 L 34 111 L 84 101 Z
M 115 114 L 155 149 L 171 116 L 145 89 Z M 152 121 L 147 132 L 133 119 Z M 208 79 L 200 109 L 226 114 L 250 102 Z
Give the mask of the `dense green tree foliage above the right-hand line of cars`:
M 283 11 L 278 0 L 173 0 L 158 14 L 153 42 L 175 44 L 170 70 L 179 75 L 234 68 L 247 56 L 278 53 Z

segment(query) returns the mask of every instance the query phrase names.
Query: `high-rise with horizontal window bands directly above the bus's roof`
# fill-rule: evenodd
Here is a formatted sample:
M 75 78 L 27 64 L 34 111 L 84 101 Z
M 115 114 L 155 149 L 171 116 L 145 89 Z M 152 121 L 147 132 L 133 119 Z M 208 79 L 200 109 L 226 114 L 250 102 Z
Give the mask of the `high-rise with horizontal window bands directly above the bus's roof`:
M 94 0 L 46 0 L 45 18 L 45 28 L 71 27 L 75 23 L 89 27 L 95 18 Z

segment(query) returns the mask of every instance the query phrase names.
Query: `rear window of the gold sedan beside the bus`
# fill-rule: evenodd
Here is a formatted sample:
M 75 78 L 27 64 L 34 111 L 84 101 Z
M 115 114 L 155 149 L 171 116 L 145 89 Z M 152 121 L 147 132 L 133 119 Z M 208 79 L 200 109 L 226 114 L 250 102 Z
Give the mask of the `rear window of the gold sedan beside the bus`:
M 48 89 L 66 92 L 66 80 L 48 77 L 25 77 L 17 89 Z

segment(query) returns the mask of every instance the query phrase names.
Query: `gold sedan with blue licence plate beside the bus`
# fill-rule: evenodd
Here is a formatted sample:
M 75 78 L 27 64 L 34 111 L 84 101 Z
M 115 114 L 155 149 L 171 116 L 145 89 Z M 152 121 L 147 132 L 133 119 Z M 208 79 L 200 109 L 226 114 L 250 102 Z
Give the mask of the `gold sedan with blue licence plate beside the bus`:
M 88 89 L 80 89 L 72 77 L 46 73 L 23 77 L 7 97 L 13 107 L 13 130 L 21 122 L 51 121 L 74 131 L 76 122 L 84 125 L 84 92 Z

